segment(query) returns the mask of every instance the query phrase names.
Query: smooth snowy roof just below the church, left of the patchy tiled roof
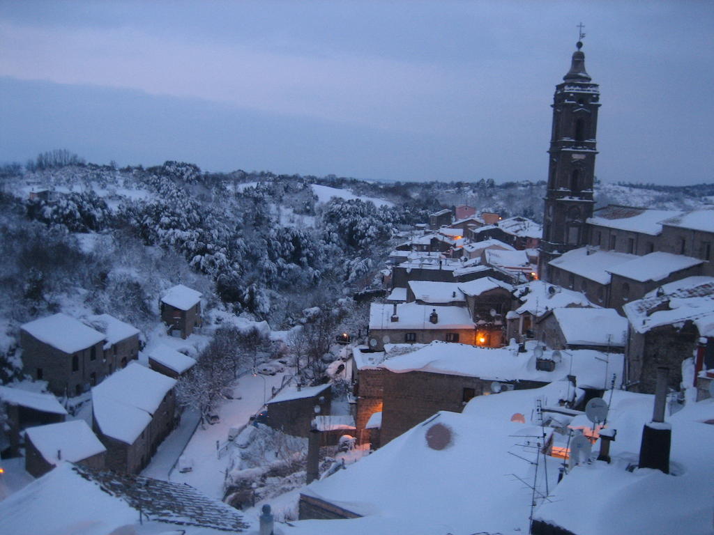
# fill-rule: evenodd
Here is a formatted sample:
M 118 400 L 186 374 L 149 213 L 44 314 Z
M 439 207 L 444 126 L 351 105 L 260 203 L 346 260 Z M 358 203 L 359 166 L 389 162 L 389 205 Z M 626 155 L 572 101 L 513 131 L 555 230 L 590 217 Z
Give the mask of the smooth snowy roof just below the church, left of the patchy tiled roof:
M 556 308 L 553 314 L 568 345 L 625 347 L 628 321 L 614 308 Z

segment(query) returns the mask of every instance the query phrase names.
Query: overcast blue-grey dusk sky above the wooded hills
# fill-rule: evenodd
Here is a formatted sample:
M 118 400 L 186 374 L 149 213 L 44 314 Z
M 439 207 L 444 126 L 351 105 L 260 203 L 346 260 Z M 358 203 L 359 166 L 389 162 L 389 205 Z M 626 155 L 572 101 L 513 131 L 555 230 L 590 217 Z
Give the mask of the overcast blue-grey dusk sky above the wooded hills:
M 585 24 L 601 180 L 713 182 L 711 1 L 0 0 L 0 161 L 546 178 Z

